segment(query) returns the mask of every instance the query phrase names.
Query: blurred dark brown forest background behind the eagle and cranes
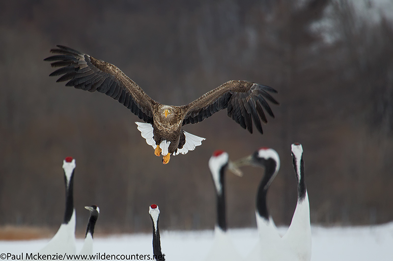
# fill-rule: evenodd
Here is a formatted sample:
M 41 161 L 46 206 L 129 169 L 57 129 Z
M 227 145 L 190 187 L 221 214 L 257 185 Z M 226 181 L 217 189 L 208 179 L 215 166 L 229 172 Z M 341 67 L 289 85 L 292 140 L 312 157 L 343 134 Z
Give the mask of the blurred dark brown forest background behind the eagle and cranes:
M 393 220 L 393 7 L 389 0 L 0 1 L 0 225 L 57 228 L 64 213 L 62 161 L 76 159 L 77 229 L 101 209 L 97 231 L 212 229 L 207 162 L 261 146 L 281 169 L 268 195 L 278 225 L 296 206 L 290 145 L 304 147 L 311 222 Z M 206 138 L 168 165 L 112 98 L 56 83 L 43 59 L 65 45 L 116 65 L 153 99 L 195 100 L 228 80 L 272 86 L 264 134 L 221 111 L 184 129 Z M 227 175 L 230 228 L 255 226 L 262 169 Z

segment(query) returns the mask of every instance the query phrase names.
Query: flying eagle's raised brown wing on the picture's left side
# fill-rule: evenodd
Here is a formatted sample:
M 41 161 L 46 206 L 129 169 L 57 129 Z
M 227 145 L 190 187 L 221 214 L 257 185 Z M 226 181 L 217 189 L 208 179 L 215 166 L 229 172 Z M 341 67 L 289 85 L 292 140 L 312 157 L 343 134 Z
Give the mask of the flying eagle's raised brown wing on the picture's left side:
M 57 82 L 68 81 L 66 86 L 109 95 L 140 119 L 147 123 L 153 122 L 155 101 L 117 67 L 69 47 L 57 47 L 51 49 L 51 52 L 58 55 L 44 59 L 52 62 L 52 67 L 61 67 L 50 74 L 50 76 L 64 74 L 57 79 Z

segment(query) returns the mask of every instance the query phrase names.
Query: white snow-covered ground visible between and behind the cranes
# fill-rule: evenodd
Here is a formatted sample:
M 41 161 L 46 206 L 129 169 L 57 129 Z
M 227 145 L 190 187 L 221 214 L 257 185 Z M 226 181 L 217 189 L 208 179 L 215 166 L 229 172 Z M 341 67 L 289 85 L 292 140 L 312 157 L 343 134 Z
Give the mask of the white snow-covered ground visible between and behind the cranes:
M 280 228 L 284 234 L 285 228 Z M 237 250 L 244 257 L 257 240 L 256 229 L 229 231 Z M 311 227 L 312 261 L 393 261 L 393 222 L 367 227 Z M 0 253 L 31 253 L 43 247 L 49 239 L 30 241 L 0 241 Z M 212 231 L 161 232 L 161 246 L 168 261 L 203 260 L 213 241 Z M 83 239 L 77 240 L 77 251 Z M 97 237 L 94 253 L 151 254 L 152 235 L 122 235 Z

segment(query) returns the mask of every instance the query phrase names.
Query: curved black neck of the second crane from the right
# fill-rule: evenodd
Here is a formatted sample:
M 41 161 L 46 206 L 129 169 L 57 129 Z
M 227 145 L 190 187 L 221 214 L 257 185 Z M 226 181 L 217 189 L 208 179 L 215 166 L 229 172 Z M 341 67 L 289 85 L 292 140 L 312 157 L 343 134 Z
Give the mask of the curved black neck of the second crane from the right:
M 265 167 L 265 174 L 261 182 L 259 183 L 258 192 L 256 194 L 256 209 L 258 214 L 264 219 L 269 219 L 269 212 L 267 210 L 266 195 L 269 189 L 271 179 L 276 173 L 277 162 L 271 158 L 260 160 L 262 165 Z

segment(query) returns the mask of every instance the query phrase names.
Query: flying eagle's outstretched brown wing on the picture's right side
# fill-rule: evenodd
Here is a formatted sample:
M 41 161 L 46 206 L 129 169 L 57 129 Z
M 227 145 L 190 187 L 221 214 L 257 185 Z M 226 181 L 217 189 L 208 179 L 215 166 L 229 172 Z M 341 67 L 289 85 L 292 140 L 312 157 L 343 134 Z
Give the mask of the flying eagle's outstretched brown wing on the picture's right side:
M 256 129 L 263 133 L 259 120 L 267 123 L 263 109 L 274 118 L 266 100 L 273 104 L 279 104 L 269 92 L 277 93 L 269 86 L 247 81 L 228 81 L 190 104 L 182 106 L 185 111 L 183 125 L 197 123 L 227 108 L 228 117 L 231 117 L 244 129 L 247 128 L 250 133 L 253 133 L 254 122 Z

